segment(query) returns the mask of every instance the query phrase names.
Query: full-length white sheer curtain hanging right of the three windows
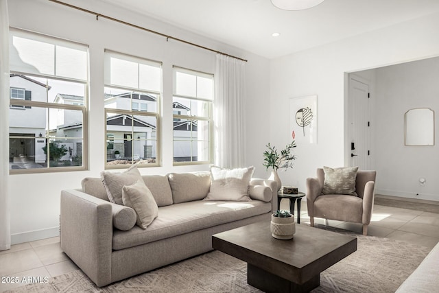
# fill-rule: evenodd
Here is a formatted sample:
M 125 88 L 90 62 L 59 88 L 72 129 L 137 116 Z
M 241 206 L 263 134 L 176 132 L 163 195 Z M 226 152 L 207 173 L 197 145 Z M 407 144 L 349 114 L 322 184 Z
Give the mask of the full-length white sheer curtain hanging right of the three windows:
M 217 54 L 215 69 L 215 165 L 244 167 L 245 62 Z

